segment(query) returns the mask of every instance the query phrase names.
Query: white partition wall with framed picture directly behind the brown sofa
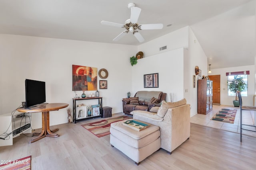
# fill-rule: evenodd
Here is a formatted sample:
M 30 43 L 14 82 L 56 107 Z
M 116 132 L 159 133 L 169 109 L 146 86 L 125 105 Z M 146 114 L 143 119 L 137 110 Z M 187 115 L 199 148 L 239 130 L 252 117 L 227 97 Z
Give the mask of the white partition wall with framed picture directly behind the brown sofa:
M 167 93 L 166 101 L 170 102 L 170 92 L 175 94 L 175 101 L 184 98 L 184 49 L 166 51 L 139 59 L 132 67 L 132 96 L 137 91 L 162 91 Z M 158 73 L 159 88 L 144 88 L 144 74 Z

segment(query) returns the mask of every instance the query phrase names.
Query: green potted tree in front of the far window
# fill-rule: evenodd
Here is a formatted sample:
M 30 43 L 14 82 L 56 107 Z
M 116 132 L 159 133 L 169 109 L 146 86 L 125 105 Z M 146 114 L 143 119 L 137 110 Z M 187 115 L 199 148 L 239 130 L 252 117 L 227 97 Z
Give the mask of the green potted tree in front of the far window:
M 234 76 L 234 79 L 228 79 L 228 90 L 236 94 L 235 100 L 233 100 L 233 104 L 235 107 L 239 107 L 239 101 L 237 100 L 237 93 L 236 91 L 239 90 L 240 92 L 246 89 L 247 84 L 244 82 L 241 76 Z

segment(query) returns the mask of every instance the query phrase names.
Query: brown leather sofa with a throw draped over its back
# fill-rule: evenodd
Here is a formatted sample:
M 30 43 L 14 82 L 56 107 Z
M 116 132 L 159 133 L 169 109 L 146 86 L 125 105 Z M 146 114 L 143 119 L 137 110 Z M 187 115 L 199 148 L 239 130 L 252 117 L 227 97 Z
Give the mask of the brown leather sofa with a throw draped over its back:
M 131 98 L 124 98 L 123 103 L 123 113 L 127 115 L 132 115 L 130 112 L 134 110 L 150 111 L 154 106 L 160 106 L 162 100 L 166 100 L 166 93 L 158 91 L 138 91 L 134 98 L 138 98 L 138 104 L 130 104 Z M 157 101 L 150 103 L 152 98 Z

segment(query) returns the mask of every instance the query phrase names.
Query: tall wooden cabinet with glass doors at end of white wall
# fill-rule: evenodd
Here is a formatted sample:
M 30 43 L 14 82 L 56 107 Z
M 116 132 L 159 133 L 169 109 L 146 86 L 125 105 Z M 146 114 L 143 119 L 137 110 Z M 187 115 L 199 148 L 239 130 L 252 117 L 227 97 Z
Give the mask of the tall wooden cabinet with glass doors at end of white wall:
M 212 80 L 198 80 L 197 113 L 206 115 L 212 111 Z

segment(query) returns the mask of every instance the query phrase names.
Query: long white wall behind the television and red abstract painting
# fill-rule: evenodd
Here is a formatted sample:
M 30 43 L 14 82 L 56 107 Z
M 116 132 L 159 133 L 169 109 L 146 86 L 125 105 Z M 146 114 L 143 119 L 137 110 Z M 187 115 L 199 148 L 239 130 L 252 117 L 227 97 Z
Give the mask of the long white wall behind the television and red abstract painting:
M 112 113 L 122 112 L 122 98 L 132 86 L 130 57 L 137 53 L 136 46 L 0 34 L 0 47 L 0 114 L 25 101 L 26 78 L 46 82 L 46 102 L 68 103 L 72 108 L 72 64 L 106 68 L 108 89 L 99 89 L 103 106 L 112 107 Z M 95 93 L 86 95 L 90 92 Z M 54 112 L 50 125 L 67 122 L 66 109 Z M 40 113 L 35 114 L 40 121 Z

